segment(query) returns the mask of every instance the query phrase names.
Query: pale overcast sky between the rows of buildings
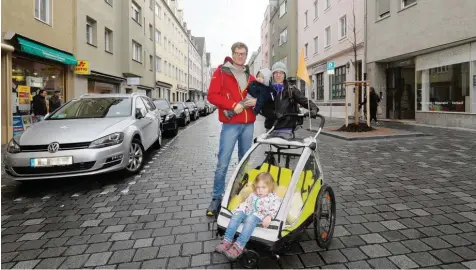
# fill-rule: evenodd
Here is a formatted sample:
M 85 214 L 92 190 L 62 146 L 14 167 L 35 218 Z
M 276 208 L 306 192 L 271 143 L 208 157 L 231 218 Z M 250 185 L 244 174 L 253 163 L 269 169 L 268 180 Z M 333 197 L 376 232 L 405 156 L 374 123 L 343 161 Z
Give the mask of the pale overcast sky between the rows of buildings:
M 179 0 L 192 36 L 205 37 L 212 67 L 231 56 L 231 45 L 248 46 L 248 59 L 261 46 L 261 23 L 268 0 Z

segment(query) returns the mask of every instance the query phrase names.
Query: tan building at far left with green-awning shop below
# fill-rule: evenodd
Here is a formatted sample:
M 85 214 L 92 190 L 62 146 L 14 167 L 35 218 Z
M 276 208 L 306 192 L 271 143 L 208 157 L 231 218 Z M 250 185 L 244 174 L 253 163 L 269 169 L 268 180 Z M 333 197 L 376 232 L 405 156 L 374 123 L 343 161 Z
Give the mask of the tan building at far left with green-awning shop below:
M 75 96 L 74 1 L 2 1 L 2 144 L 31 124 L 30 100 Z

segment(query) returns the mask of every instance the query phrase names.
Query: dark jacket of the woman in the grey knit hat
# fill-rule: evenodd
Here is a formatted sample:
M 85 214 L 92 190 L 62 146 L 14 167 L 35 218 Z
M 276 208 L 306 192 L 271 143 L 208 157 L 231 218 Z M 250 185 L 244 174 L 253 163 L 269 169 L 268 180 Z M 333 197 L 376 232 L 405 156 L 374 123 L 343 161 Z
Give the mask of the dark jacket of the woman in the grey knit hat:
M 299 113 L 298 104 L 310 111 L 319 112 L 319 108 L 312 101 L 309 101 L 311 108 L 308 108 L 308 99 L 294 86 L 285 84 L 285 88 L 281 93 L 278 94 L 276 91 L 273 91 L 272 94 L 273 101 L 265 103 L 261 110 L 261 114 L 266 117 L 264 121 L 266 129 L 272 128 L 276 119 L 286 113 Z M 302 117 L 283 117 L 276 124 L 275 130 L 282 128 L 294 130 L 296 126 L 302 125 L 302 120 Z

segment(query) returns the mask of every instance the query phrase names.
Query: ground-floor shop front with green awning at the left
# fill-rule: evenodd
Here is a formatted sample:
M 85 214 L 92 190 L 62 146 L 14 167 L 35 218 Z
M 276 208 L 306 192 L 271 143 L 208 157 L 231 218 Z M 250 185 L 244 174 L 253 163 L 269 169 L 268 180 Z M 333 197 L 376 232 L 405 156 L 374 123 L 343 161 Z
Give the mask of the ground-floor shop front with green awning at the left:
M 13 136 L 21 134 L 25 129 L 40 119 L 33 114 L 33 100 L 46 90 L 42 106 L 46 113 L 52 112 L 50 100 L 56 97 L 61 104 L 70 97 L 73 73 L 70 66 L 75 66 L 76 58 L 67 52 L 49 47 L 21 35 L 14 35 L 8 40 L 13 48 L 11 58 L 4 70 L 2 78 L 2 119 L 7 120 L 7 132 L 2 131 L 2 143 L 7 143 Z M 3 51 L 2 51 L 3 53 Z M 56 96 L 56 97 L 53 97 Z

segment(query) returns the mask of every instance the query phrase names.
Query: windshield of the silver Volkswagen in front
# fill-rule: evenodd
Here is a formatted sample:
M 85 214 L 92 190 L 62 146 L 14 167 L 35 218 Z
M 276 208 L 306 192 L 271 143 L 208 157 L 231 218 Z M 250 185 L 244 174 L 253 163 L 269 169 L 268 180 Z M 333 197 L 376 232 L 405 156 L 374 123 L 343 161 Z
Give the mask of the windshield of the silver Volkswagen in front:
M 64 107 L 51 114 L 48 119 L 127 117 L 131 115 L 131 112 L 130 98 L 81 98 L 68 102 Z

